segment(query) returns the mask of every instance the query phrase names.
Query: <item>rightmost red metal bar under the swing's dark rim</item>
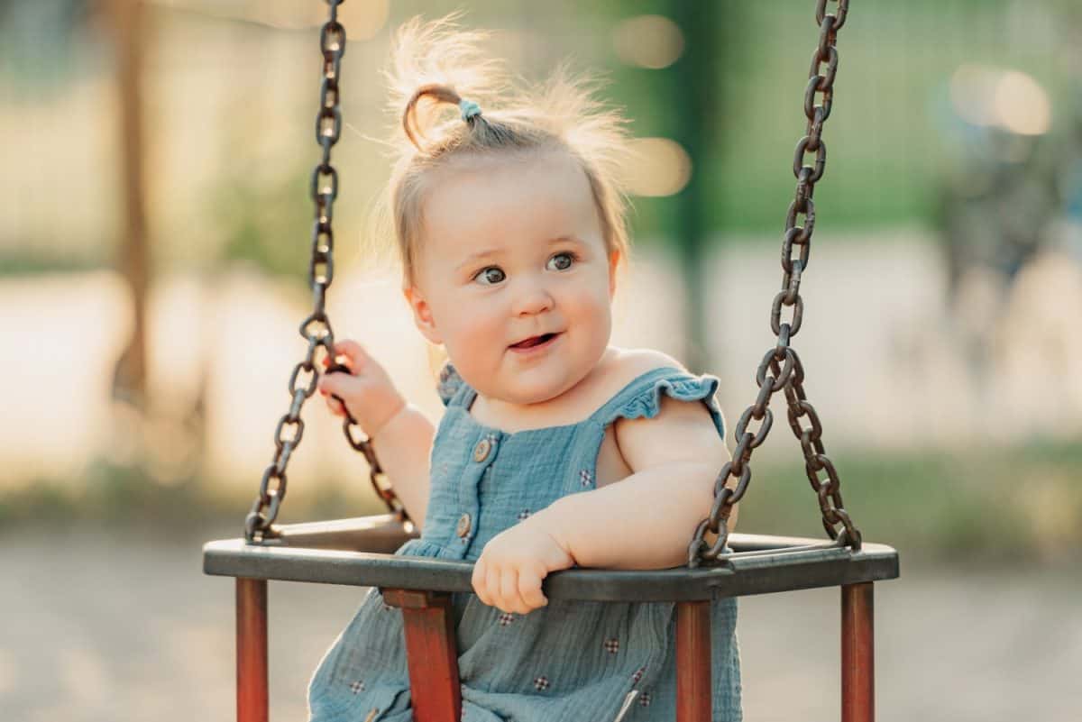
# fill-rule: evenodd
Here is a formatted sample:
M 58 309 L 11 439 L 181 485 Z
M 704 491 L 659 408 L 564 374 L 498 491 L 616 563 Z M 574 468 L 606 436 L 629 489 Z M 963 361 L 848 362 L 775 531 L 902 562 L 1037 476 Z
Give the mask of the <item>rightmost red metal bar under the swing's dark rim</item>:
M 842 587 L 842 722 L 875 720 L 872 583 Z

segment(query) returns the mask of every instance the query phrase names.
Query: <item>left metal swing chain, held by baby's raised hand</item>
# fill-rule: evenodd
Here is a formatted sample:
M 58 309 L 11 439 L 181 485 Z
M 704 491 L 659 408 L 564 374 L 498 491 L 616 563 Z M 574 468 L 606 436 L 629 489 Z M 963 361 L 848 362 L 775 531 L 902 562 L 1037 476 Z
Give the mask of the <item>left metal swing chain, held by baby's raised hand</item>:
M 334 216 L 333 203 L 338 198 L 338 171 L 331 165 L 331 148 L 338 143 L 342 133 L 339 78 L 342 55 L 345 54 L 345 27 L 338 19 L 338 6 L 344 0 L 326 1 L 329 6 L 329 18 L 319 31 L 319 49 L 324 59 L 322 80 L 319 85 L 319 112 L 316 115 L 316 143 L 322 149 L 322 155 L 312 172 L 309 186 L 309 195 L 315 203 L 315 220 L 312 227 L 308 288 L 312 289 L 315 297 L 315 309 L 301 323 L 300 333 L 308 342 L 308 350 L 304 360 L 293 367 L 289 379 L 289 393 L 292 403 L 275 429 L 276 451 L 274 458 L 263 471 L 259 496 L 245 519 L 245 538 L 249 543 L 260 543 L 278 536 L 273 524 L 278 517 L 281 502 L 286 498 L 286 466 L 304 434 L 301 407 L 316 392 L 319 383 L 319 374 L 316 372 L 316 349 L 322 347 L 331 358 L 331 364 L 326 373 L 349 371 L 348 366 L 334 362 L 334 332 L 331 330 L 330 319 L 326 311 L 327 290 L 334 278 L 334 231 L 331 222 Z M 299 387 L 296 382 L 302 371 L 309 376 L 306 385 Z M 338 396 L 334 398 L 342 402 Z M 359 440 L 354 438 L 353 427 L 357 426 L 357 422 L 344 403 L 342 403 L 342 407 L 345 411 L 342 430 L 345 432 L 349 445 L 365 455 L 369 465 L 372 487 L 387 505 L 387 508 L 398 517 L 399 521 L 407 521 L 405 507 L 391 486 L 388 484 L 381 486 L 377 482 L 377 477 L 383 476 L 383 470 L 375 460 L 375 452 L 372 450 L 370 440 L 365 438 L 362 433 Z M 295 431 L 291 438 L 283 439 L 282 430 L 287 425 L 294 426 Z

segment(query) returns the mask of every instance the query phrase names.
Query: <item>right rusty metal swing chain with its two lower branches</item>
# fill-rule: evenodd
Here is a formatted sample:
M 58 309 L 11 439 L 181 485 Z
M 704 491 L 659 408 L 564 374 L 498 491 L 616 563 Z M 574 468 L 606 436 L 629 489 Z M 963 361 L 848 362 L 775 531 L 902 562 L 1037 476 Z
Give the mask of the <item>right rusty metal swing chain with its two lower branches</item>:
M 801 275 L 807 270 L 812 252 L 812 233 L 815 230 L 815 203 L 812 197 L 815 184 L 822 178 L 827 166 L 827 144 L 822 139 L 822 125 L 830 117 L 834 98 L 834 75 L 837 71 L 837 31 L 845 25 L 848 0 L 837 2 L 835 14 L 827 14 L 828 0 L 816 0 L 815 19 L 819 25 L 819 43 L 812 54 L 812 68 L 804 90 L 804 115 L 807 117 L 805 135 L 796 144 L 793 156 L 793 175 L 796 176 L 796 191 L 786 214 L 786 230 L 781 241 L 781 291 L 774 297 L 770 308 L 770 330 L 778 337 L 774 348 L 768 349 L 755 373 L 758 396 L 748 406 L 737 422 L 734 438 L 737 442 L 733 460 L 722 467 L 714 482 L 714 504 L 710 517 L 696 527 L 688 545 L 688 566 L 696 567 L 701 562 L 714 561 L 722 556 L 729 537 L 728 519 L 733 506 L 743 498 L 751 483 L 751 455 L 770 431 L 774 414 L 768 405 L 770 397 L 784 391 L 788 402 L 789 426 L 804 450 L 804 468 L 812 489 L 819 499 L 822 525 L 830 538 L 854 550 L 860 549 L 860 532 L 854 525 L 842 503 L 841 480 L 833 463 L 827 457 L 822 444 L 822 424 L 804 392 L 804 365 L 790 340 L 801 330 L 804 318 L 804 300 L 801 298 Z M 822 64 L 827 67 L 821 70 Z M 815 105 L 816 93 L 822 93 L 822 102 Z M 804 157 L 815 153 L 815 165 L 805 165 Z M 804 225 L 796 225 L 796 216 L 804 215 Z M 793 257 L 793 246 L 800 246 L 800 257 Z M 782 309 L 791 308 L 792 317 L 782 321 Z M 809 427 L 801 426 L 801 417 L 807 416 Z M 761 422 L 757 431 L 749 431 L 748 425 Z M 819 479 L 820 472 L 826 480 Z M 735 489 L 727 484 L 737 479 Z M 841 532 L 837 525 L 842 525 Z M 716 534 L 711 545 L 705 542 L 707 532 Z

